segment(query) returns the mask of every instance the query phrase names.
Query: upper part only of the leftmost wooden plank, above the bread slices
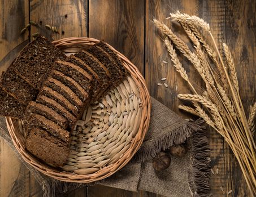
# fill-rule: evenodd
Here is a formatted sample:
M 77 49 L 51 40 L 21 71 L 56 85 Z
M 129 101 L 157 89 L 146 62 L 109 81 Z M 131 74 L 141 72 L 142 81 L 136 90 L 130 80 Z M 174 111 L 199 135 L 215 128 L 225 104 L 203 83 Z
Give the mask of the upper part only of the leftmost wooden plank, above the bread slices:
M 28 23 L 28 0 L 0 3 L 0 73 L 6 70 L 17 53 L 28 43 L 28 31 L 20 30 Z

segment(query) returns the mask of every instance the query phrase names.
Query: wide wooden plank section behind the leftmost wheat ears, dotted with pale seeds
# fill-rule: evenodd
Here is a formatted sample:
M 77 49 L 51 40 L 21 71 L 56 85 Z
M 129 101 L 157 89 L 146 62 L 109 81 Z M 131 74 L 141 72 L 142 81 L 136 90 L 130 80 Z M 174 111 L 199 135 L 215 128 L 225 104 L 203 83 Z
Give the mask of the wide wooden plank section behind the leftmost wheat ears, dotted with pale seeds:
M 183 28 L 178 24 L 172 24 L 171 20 L 166 20 L 166 17 L 170 16 L 169 14 L 173 10 L 180 10 L 187 14 L 200 16 L 201 2 L 168 0 L 146 1 L 146 5 L 145 79 L 147 87 L 149 87 L 151 96 L 157 98 L 157 100 L 176 113 L 188 117 L 177 108 L 177 106 L 181 104 L 180 100 L 177 98 L 177 93 L 188 93 L 190 90 L 188 85 L 172 66 L 171 58 L 163 44 L 164 36 L 154 26 L 152 21 L 153 19 L 157 19 L 167 24 L 175 34 L 189 44 L 189 39 L 186 37 Z M 167 61 L 168 64 L 163 64 L 163 60 Z M 200 90 L 202 82 L 196 70 L 183 56 L 180 56 L 180 61 L 183 63 L 193 84 Z M 162 83 L 161 78 L 167 78 L 165 83 L 168 84 L 168 88 L 158 86 L 157 83 Z

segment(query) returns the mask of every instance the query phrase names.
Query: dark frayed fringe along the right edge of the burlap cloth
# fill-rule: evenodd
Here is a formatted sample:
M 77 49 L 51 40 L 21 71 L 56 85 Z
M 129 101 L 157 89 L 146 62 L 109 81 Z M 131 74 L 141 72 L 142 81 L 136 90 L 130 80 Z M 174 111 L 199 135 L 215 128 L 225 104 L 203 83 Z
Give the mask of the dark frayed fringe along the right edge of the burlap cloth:
M 192 147 L 192 166 L 189 173 L 189 187 L 192 196 L 211 196 L 210 192 L 210 147 L 205 130 L 193 133 L 190 138 Z

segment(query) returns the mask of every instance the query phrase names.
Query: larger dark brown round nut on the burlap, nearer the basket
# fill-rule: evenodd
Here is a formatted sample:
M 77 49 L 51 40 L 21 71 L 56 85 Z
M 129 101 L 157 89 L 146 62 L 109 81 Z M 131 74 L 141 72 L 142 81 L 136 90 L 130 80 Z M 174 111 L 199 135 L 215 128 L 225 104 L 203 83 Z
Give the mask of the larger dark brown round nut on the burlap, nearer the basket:
M 170 166 L 171 156 L 167 153 L 160 152 L 153 159 L 153 167 L 156 171 L 163 171 Z

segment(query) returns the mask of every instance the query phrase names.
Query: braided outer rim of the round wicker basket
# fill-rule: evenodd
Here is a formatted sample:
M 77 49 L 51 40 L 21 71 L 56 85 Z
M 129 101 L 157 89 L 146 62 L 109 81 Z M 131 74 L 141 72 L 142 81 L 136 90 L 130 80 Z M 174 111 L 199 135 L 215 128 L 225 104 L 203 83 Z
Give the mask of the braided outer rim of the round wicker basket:
M 72 48 L 83 48 L 97 42 L 99 42 L 99 40 L 94 38 L 70 37 L 70 38 L 59 39 L 58 41 L 53 41 L 52 43 L 55 44 L 55 46 L 59 47 L 60 50 L 65 51 Z M 116 51 L 114 47 L 110 46 L 110 44 L 108 44 L 108 46 L 118 54 L 118 56 L 123 62 L 124 67 L 131 74 L 131 77 L 136 82 L 137 87 L 140 88 L 142 116 L 141 116 L 140 128 L 138 129 L 138 132 L 134 137 L 133 144 L 124 153 L 124 155 L 122 156 L 122 159 L 119 159 L 118 162 L 115 162 L 114 164 L 107 165 L 107 167 L 104 167 L 95 173 L 83 175 L 83 174 L 75 174 L 75 173 L 66 172 L 66 171 L 60 172 L 58 168 L 53 168 L 43 162 L 40 162 L 40 160 L 38 160 L 36 157 L 34 157 L 25 149 L 25 146 L 24 146 L 25 141 L 23 140 L 24 137 L 18 131 L 18 128 L 20 128 L 20 126 L 18 124 L 17 119 L 6 117 L 8 131 L 11 135 L 12 141 L 14 142 L 14 146 L 16 147 L 16 149 L 18 150 L 22 158 L 27 163 L 29 163 L 34 168 L 36 168 L 38 171 L 46 174 L 47 176 L 53 177 L 60 181 L 79 182 L 79 183 L 89 183 L 89 182 L 102 180 L 103 178 L 109 177 L 119 169 L 123 168 L 124 165 L 127 164 L 129 160 L 131 160 L 132 156 L 136 153 L 136 151 L 140 148 L 142 144 L 142 141 L 149 127 L 150 110 L 151 110 L 150 96 L 146 88 L 145 79 L 141 75 L 140 71 L 136 68 L 136 66 L 133 65 L 132 62 L 127 59 L 127 57 L 125 57 L 122 53 Z

